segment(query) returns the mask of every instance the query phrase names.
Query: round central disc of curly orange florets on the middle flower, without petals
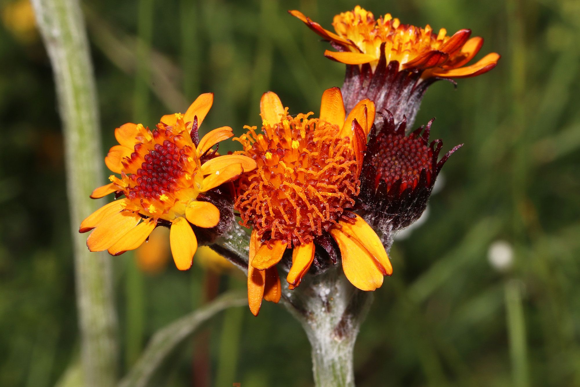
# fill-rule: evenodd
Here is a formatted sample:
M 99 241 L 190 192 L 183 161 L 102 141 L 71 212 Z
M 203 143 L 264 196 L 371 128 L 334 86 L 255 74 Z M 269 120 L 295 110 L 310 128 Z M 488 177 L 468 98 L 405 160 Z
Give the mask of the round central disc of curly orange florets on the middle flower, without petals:
M 338 125 L 309 118 L 313 113 L 264 120 L 262 133 L 250 128 L 240 138 L 243 154 L 258 168 L 238 182 L 235 204 L 244 225 L 260 236 L 304 245 L 336 224 L 358 194 L 357 161 L 350 138 Z

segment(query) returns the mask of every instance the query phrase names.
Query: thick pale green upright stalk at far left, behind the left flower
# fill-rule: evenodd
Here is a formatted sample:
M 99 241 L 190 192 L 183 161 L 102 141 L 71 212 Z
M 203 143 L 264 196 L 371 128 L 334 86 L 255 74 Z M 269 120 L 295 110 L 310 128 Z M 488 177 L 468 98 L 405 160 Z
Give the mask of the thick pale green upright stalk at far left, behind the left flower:
M 88 194 L 105 181 L 85 24 L 77 0 L 32 3 L 55 74 L 63 121 L 85 385 L 112 386 L 117 377 L 117 315 L 111 260 L 105 253 L 90 253 L 86 235 L 78 233 L 82 219 L 102 205 Z

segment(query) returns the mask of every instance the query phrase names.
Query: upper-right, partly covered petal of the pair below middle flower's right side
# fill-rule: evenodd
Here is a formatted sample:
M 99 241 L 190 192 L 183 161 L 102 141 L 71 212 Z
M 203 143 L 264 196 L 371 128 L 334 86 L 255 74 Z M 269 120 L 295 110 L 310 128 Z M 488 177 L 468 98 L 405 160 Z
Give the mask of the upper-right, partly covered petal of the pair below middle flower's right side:
M 354 214 L 354 213 L 351 213 Z M 379 236 L 376 235 L 375 230 L 372 229 L 367 222 L 364 221 L 360 216 L 354 214 L 354 223 L 348 223 L 346 221 L 339 221 L 342 226 L 342 231 L 349 235 L 351 238 L 357 239 L 361 245 L 371 253 L 372 257 L 377 261 L 378 268 L 382 271 L 383 275 L 393 274 L 393 266 L 391 266 L 391 261 L 383 243 L 380 242 Z

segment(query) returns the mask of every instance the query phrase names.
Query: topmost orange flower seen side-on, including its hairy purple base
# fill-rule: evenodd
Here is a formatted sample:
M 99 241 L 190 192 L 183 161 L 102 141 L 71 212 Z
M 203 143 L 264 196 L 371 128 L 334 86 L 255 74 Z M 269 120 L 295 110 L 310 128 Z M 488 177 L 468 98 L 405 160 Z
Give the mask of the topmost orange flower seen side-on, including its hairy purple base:
M 298 10 L 291 10 L 311 30 L 331 42 L 338 50 L 325 51 L 327 58 L 346 64 L 342 87 L 347 110 L 362 98 L 375 101 L 378 112 L 390 110 L 395 122 L 407 117 L 411 127 L 423 94 L 437 80 L 475 77 L 493 69 L 499 55 L 485 55 L 466 66 L 480 51 L 483 38 L 470 38 L 471 30 L 463 29 L 448 36 L 429 25 L 425 28 L 401 24 L 389 13 L 375 19 L 371 12 L 356 6 L 354 10 L 334 17 L 335 33 Z M 380 129 L 382 120 L 377 118 Z

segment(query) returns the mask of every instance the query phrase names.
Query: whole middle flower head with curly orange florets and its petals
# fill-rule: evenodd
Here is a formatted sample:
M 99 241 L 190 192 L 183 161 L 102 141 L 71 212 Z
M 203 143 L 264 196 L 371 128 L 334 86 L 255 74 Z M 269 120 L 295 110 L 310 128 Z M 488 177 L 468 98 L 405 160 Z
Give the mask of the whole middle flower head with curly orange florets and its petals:
M 248 267 L 248 301 L 258 314 L 262 299 L 280 300 L 276 264 L 292 250 L 289 288 L 300 284 L 314 260 L 314 243 L 335 238 L 347 278 L 364 290 L 391 273 L 379 237 L 353 212 L 367 135 L 375 106 L 364 99 L 346 116 L 342 93 L 322 95 L 320 117 L 288 114 L 273 92 L 262 96 L 262 132 L 247 127 L 237 138 L 258 167 L 236 182 L 234 209 L 253 226 Z

